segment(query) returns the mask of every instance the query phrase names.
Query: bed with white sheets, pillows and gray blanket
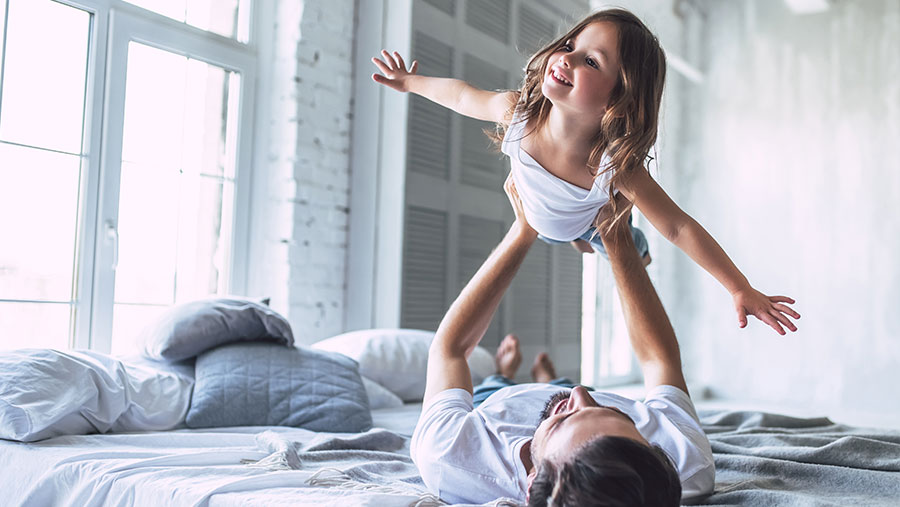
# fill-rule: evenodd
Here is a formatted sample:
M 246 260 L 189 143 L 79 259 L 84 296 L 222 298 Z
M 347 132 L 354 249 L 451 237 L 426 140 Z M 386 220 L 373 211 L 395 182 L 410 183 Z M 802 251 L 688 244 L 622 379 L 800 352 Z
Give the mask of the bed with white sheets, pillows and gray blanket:
M 409 457 L 433 333 L 307 350 L 257 303 L 181 310 L 147 357 L 0 353 L 0 504 L 444 505 Z M 492 367 L 470 358 L 475 383 Z M 698 408 L 717 477 L 694 504 L 900 505 L 898 431 Z

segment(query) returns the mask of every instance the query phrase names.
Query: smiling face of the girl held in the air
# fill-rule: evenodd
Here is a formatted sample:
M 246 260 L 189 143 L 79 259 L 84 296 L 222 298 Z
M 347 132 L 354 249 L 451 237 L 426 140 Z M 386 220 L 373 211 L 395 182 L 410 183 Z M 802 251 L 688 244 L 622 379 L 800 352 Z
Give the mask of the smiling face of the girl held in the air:
M 598 21 L 550 55 L 541 92 L 554 106 L 602 113 L 618 80 L 619 30 Z

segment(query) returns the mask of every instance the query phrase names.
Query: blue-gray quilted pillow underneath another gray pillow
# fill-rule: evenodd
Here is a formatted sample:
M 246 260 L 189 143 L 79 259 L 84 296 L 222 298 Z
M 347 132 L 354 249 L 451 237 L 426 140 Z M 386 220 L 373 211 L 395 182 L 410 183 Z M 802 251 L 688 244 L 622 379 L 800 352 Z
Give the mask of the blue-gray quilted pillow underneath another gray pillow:
M 197 357 L 185 424 L 293 426 L 353 433 L 372 427 L 356 361 L 270 343 L 224 345 Z

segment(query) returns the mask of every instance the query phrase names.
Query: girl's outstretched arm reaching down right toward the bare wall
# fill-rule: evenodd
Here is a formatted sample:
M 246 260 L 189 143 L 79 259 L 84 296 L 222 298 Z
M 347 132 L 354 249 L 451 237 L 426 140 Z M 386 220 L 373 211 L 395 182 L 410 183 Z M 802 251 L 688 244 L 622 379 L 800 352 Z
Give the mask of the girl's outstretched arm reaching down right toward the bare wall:
M 731 293 L 740 327 L 747 325 L 747 315 L 753 315 L 778 334 L 785 334 L 782 325 L 791 331 L 797 330 L 788 316 L 799 319 L 800 314 L 786 305 L 794 304 L 794 300 L 786 296 L 767 296 L 754 289 L 719 243 L 672 201 L 649 172 L 636 171 L 619 190 L 641 210 L 660 234 L 688 254 Z

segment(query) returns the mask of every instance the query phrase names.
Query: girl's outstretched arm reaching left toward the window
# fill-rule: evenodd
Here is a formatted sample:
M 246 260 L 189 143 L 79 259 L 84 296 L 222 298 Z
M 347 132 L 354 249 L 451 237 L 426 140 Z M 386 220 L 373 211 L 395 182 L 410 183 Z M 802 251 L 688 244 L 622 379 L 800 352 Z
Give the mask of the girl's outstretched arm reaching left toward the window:
M 393 55 L 381 50 L 384 58 L 372 58 L 372 63 L 382 74 L 372 74 L 376 83 L 393 88 L 398 92 L 412 92 L 436 102 L 457 113 L 492 122 L 508 122 L 504 118 L 509 108 L 518 100 L 518 92 L 492 92 L 480 90 L 461 79 L 419 76 L 419 62 L 413 61 L 409 69 L 400 53 Z

